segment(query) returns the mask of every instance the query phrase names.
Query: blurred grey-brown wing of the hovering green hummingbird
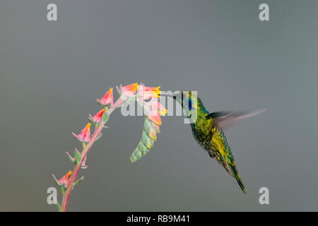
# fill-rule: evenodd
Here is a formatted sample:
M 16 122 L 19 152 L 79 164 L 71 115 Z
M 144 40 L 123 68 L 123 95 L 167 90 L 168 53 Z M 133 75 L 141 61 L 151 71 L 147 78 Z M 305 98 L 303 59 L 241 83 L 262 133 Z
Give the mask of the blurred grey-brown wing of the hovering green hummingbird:
M 257 114 L 261 114 L 266 112 L 267 109 L 257 109 L 252 111 L 245 112 L 212 112 L 206 116 L 206 119 L 213 119 L 213 124 L 222 129 L 227 129 L 229 126 L 241 121 L 242 119 L 247 119 L 249 117 L 253 117 Z

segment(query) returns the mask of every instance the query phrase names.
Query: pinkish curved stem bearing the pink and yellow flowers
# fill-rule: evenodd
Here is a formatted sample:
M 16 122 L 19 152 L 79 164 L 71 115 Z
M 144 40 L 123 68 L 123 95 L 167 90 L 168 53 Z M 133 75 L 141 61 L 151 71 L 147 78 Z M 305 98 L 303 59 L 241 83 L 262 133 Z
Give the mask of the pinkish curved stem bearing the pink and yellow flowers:
M 107 109 L 107 114 L 110 116 L 110 114 L 112 114 L 114 109 L 116 109 L 117 107 L 121 106 L 125 101 L 126 100 L 119 98 L 114 103 L 114 105 L 112 105 L 112 107 Z M 95 129 L 92 137 L 90 138 L 90 142 L 85 146 L 85 148 L 83 148 L 83 150 L 81 152 L 82 162 L 83 162 L 84 157 L 86 157 L 86 155 L 87 155 L 88 151 L 90 150 L 90 148 L 93 146 L 93 144 L 97 140 L 97 138 L 100 135 L 100 132 L 102 131 L 104 126 L 105 126 L 105 123 L 104 124 L 100 123 L 100 125 L 98 126 L 97 129 Z M 74 182 L 76 182 L 76 178 L 78 177 L 78 172 L 81 169 L 82 162 L 77 162 L 75 167 L 74 167 L 73 174 L 72 174 L 71 179 L 69 181 L 69 185 L 66 188 L 65 194 L 63 196 L 63 201 L 61 203 L 62 212 L 66 212 L 67 204 L 69 203 L 69 196 L 71 195 L 71 191 L 73 189 L 73 184 L 74 184 Z

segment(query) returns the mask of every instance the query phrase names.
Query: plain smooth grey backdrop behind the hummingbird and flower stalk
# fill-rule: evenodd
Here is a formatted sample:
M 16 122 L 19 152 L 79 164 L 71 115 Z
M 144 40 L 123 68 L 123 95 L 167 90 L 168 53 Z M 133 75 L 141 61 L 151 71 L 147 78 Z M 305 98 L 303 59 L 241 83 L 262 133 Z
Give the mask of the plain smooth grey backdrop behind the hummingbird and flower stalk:
M 46 191 L 52 173 L 72 168 L 64 152 L 80 145 L 70 132 L 110 86 L 136 81 L 198 90 L 211 111 L 271 107 L 226 131 L 247 196 L 182 117 L 164 118 L 151 152 L 131 164 L 143 118 L 118 110 L 69 210 L 318 210 L 318 1 L 266 1 L 261 22 L 264 2 L 1 0 L 0 210 L 55 211 Z

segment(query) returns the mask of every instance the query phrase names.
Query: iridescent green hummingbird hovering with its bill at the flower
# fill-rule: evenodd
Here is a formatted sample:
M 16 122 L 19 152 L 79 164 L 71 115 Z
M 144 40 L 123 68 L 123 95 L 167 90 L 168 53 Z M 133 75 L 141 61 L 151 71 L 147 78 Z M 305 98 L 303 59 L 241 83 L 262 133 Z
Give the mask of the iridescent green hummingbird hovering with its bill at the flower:
M 163 94 L 164 95 L 164 94 Z M 167 94 L 166 94 L 167 95 Z M 235 177 L 237 183 L 246 194 L 247 190 L 237 172 L 236 163 L 228 140 L 223 129 L 230 124 L 265 112 L 266 109 L 258 109 L 248 112 L 208 112 L 196 95 L 196 92 L 182 91 L 172 96 L 182 106 L 184 114 L 190 121 L 193 136 L 210 157 L 215 158 L 228 174 Z

